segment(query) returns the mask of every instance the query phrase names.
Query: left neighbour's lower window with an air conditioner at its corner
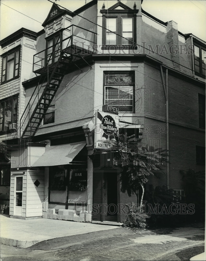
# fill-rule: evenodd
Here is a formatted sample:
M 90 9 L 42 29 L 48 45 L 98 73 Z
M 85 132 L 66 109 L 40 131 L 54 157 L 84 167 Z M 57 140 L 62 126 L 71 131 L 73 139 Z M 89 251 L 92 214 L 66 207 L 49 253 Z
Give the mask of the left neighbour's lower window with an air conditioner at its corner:
M 18 95 L 0 101 L 0 132 L 8 131 L 17 123 Z

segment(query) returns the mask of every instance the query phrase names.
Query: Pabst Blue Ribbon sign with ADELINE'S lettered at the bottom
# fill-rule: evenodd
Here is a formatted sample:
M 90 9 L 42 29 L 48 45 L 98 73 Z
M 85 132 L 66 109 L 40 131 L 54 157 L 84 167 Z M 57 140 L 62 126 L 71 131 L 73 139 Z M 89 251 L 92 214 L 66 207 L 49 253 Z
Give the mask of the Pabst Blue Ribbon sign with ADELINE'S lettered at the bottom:
M 118 126 L 118 116 L 108 112 L 96 111 L 94 148 L 110 149 L 111 145 L 118 141 Z

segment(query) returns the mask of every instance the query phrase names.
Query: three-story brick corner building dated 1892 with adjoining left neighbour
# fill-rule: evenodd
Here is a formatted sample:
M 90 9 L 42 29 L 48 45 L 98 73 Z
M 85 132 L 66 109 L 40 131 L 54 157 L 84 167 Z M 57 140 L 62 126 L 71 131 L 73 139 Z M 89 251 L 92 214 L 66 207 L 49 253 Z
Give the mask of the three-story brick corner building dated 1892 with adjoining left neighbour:
M 141 0 L 93 0 L 75 12 L 54 3 L 42 26 L 0 41 L 0 138 L 11 151 L 1 156 L 0 203 L 9 214 L 123 222 L 100 211 L 135 201 L 98 147 L 95 124 L 105 115 L 169 150 L 167 174 L 148 184 L 182 193 L 179 170 L 205 168 L 206 43 L 148 14 Z

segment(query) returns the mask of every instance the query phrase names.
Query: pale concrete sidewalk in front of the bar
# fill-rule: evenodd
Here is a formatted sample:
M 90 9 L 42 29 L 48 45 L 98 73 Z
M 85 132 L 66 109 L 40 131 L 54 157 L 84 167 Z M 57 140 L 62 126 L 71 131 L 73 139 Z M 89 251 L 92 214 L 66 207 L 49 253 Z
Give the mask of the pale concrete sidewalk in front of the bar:
M 48 239 L 115 228 L 119 227 L 46 218 L 22 220 L 0 215 L 0 243 L 26 248 Z

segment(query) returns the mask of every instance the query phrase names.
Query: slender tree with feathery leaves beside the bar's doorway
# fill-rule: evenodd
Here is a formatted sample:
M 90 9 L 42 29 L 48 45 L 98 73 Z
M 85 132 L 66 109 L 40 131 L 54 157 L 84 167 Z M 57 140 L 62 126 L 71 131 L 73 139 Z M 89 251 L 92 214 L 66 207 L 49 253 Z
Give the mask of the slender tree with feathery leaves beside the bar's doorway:
M 113 147 L 113 164 L 120 164 L 122 174 L 120 176 L 121 191 L 136 195 L 142 189 L 140 208 L 143 206 L 144 184 L 148 182 L 148 176 L 154 175 L 156 171 L 162 170 L 162 165 L 167 162 L 166 150 L 143 146 L 140 138 L 135 135 L 128 136 L 127 133 L 119 135 L 118 145 Z M 163 171 L 162 171 L 163 172 Z

